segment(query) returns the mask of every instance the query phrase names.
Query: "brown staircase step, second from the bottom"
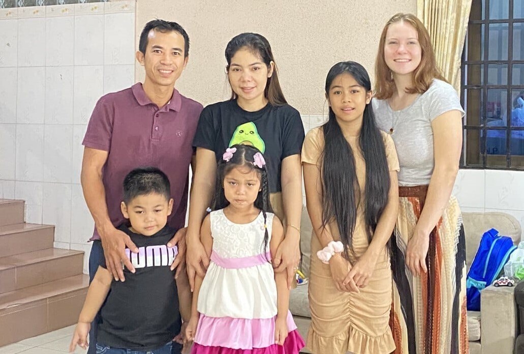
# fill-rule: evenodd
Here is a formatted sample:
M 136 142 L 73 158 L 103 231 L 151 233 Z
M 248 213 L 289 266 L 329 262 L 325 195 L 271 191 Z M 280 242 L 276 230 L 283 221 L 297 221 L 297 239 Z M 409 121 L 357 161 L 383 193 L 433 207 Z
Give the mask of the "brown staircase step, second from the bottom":
M 82 273 L 84 253 L 47 248 L 0 258 L 0 293 Z

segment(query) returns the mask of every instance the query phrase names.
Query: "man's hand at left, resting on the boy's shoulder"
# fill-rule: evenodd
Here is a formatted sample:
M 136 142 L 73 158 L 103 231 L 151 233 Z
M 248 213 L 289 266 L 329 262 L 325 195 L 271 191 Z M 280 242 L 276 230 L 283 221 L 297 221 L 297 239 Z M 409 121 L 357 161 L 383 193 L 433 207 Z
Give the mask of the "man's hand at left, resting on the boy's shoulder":
M 133 253 L 138 253 L 138 248 L 131 241 L 129 235 L 125 232 L 113 227 L 107 232 L 102 232 L 100 235 L 102 241 L 102 248 L 104 249 L 105 266 L 110 271 L 116 281 L 125 281 L 124 270 L 122 264 L 132 273 L 135 272 L 135 267 L 127 258 L 126 247 Z

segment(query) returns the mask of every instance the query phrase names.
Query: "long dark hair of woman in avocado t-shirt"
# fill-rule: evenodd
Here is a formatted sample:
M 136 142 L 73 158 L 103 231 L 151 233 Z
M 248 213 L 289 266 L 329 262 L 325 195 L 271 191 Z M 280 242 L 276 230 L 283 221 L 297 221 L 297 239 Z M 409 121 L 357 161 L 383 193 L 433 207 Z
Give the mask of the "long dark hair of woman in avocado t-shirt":
M 275 57 L 271 51 L 271 45 L 268 40 L 258 33 L 241 33 L 227 43 L 225 55 L 227 61 L 226 70 L 229 72 L 231 65 L 231 58 L 235 53 L 243 48 L 247 48 L 252 51 L 255 55 L 258 55 L 260 59 L 266 64 L 268 69 L 270 68 L 271 62 L 274 64 L 273 74 L 267 78 L 266 89 L 264 90 L 264 96 L 267 98 L 272 106 L 283 106 L 287 105 L 286 98 L 280 88 L 278 82 L 278 70 L 277 64 L 275 63 Z M 231 84 L 230 84 L 231 85 Z M 232 90 L 231 99 L 236 99 L 237 95 Z

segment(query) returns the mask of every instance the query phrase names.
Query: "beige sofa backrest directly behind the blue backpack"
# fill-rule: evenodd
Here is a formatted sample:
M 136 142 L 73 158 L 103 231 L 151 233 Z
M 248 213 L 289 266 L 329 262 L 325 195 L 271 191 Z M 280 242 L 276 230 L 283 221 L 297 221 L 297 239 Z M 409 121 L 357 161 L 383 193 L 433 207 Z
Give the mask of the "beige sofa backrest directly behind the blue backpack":
M 495 228 L 500 235 L 509 236 L 514 244 L 520 242 L 520 224 L 514 216 L 500 213 L 462 213 L 464 233 L 466 235 L 466 268 L 470 269 L 473 257 L 484 232 Z

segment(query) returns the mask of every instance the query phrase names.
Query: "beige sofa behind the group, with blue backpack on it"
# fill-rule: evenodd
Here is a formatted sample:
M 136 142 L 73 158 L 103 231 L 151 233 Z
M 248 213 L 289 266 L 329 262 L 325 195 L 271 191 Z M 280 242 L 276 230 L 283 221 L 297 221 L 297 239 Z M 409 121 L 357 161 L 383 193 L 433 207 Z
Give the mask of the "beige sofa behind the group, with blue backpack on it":
M 520 242 L 521 226 L 517 219 L 503 212 L 463 213 L 466 236 L 466 267 L 469 269 L 475 256 L 482 234 L 494 227 L 501 235 L 509 236 L 515 244 Z M 305 208 L 301 221 L 301 270 L 309 275 L 311 221 Z M 316 257 L 316 256 L 315 256 Z M 518 313 L 514 298 L 515 287 L 493 285 L 481 293 L 481 311 L 468 311 L 467 324 L 471 354 L 506 354 L 514 351 L 517 336 Z M 311 322 L 308 303 L 308 284 L 291 291 L 289 310 L 297 324 L 300 334 L 307 337 Z M 304 353 L 310 353 L 304 348 Z M 331 353 L 319 353 L 331 354 Z

